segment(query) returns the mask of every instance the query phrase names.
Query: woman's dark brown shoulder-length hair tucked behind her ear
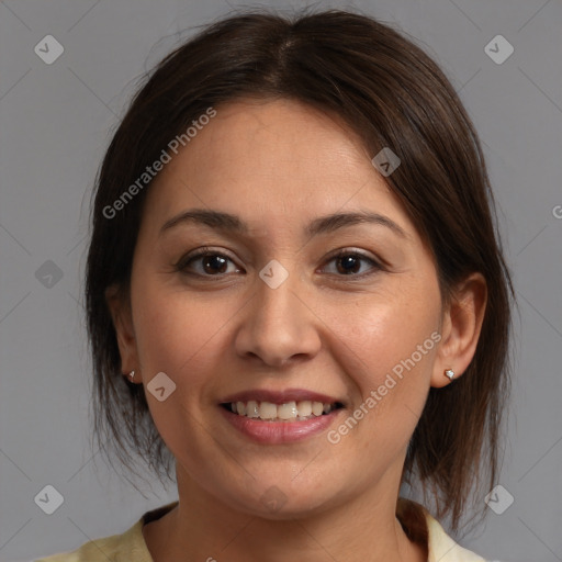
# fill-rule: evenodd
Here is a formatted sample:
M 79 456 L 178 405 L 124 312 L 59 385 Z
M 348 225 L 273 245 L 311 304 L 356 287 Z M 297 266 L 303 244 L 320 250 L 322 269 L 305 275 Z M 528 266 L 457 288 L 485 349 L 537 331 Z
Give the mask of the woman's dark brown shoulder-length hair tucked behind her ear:
M 133 472 L 131 450 L 170 477 L 171 454 L 144 387 L 121 374 L 104 296 L 110 285 L 127 295 L 149 186 L 116 218 L 103 210 L 210 106 L 220 111 L 249 97 L 293 99 L 339 115 L 372 156 L 390 147 L 402 164 L 386 181 L 434 252 L 443 302 L 471 272 L 487 282 L 475 356 L 462 378 L 430 390 L 403 474 L 404 482 L 417 477 L 436 499 L 437 516 L 450 515 L 457 529 L 473 484 L 487 492 L 498 474 L 513 286 L 482 149 L 454 89 L 412 41 L 356 13 L 252 12 L 218 21 L 158 64 L 132 101 L 103 159 L 92 206 L 86 299 L 98 441 L 103 450 L 114 447 Z

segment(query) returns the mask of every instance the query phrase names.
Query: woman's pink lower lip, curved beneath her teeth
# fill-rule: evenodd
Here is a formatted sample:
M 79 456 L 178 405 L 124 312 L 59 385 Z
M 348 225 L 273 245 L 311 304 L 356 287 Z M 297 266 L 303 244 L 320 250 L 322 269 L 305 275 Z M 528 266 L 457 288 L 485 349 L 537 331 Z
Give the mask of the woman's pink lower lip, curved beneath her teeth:
M 223 416 L 238 431 L 258 443 L 286 443 L 313 437 L 326 430 L 342 412 L 338 408 L 312 419 L 296 422 L 263 422 L 260 419 L 234 414 L 223 406 L 218 406 Z

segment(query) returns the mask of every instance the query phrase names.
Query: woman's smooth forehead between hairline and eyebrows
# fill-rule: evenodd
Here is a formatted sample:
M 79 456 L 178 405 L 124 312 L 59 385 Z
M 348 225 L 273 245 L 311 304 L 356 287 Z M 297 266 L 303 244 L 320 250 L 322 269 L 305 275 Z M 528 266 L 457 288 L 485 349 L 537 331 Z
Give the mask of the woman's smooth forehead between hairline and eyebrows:
M 189 206 L 237 214 L 261 232 L 359 207 L 392 214 L 405 229 L 409 223 L 342 120 L 285 99 L 216 108 L 148 199 L 146 218 L 160 223 Z

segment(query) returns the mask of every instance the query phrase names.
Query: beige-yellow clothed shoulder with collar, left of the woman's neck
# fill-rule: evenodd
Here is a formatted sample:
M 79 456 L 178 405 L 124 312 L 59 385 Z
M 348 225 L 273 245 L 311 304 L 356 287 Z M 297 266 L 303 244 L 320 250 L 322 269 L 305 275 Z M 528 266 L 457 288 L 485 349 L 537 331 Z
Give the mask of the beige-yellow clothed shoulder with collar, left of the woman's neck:
M 135 525 L 121 535 L 91 540 L 71 552 L 61 552 L 35 562 L 153 562 L 143 537 L 143 526 L 172 509 L 177 502 L 145 513 Z

